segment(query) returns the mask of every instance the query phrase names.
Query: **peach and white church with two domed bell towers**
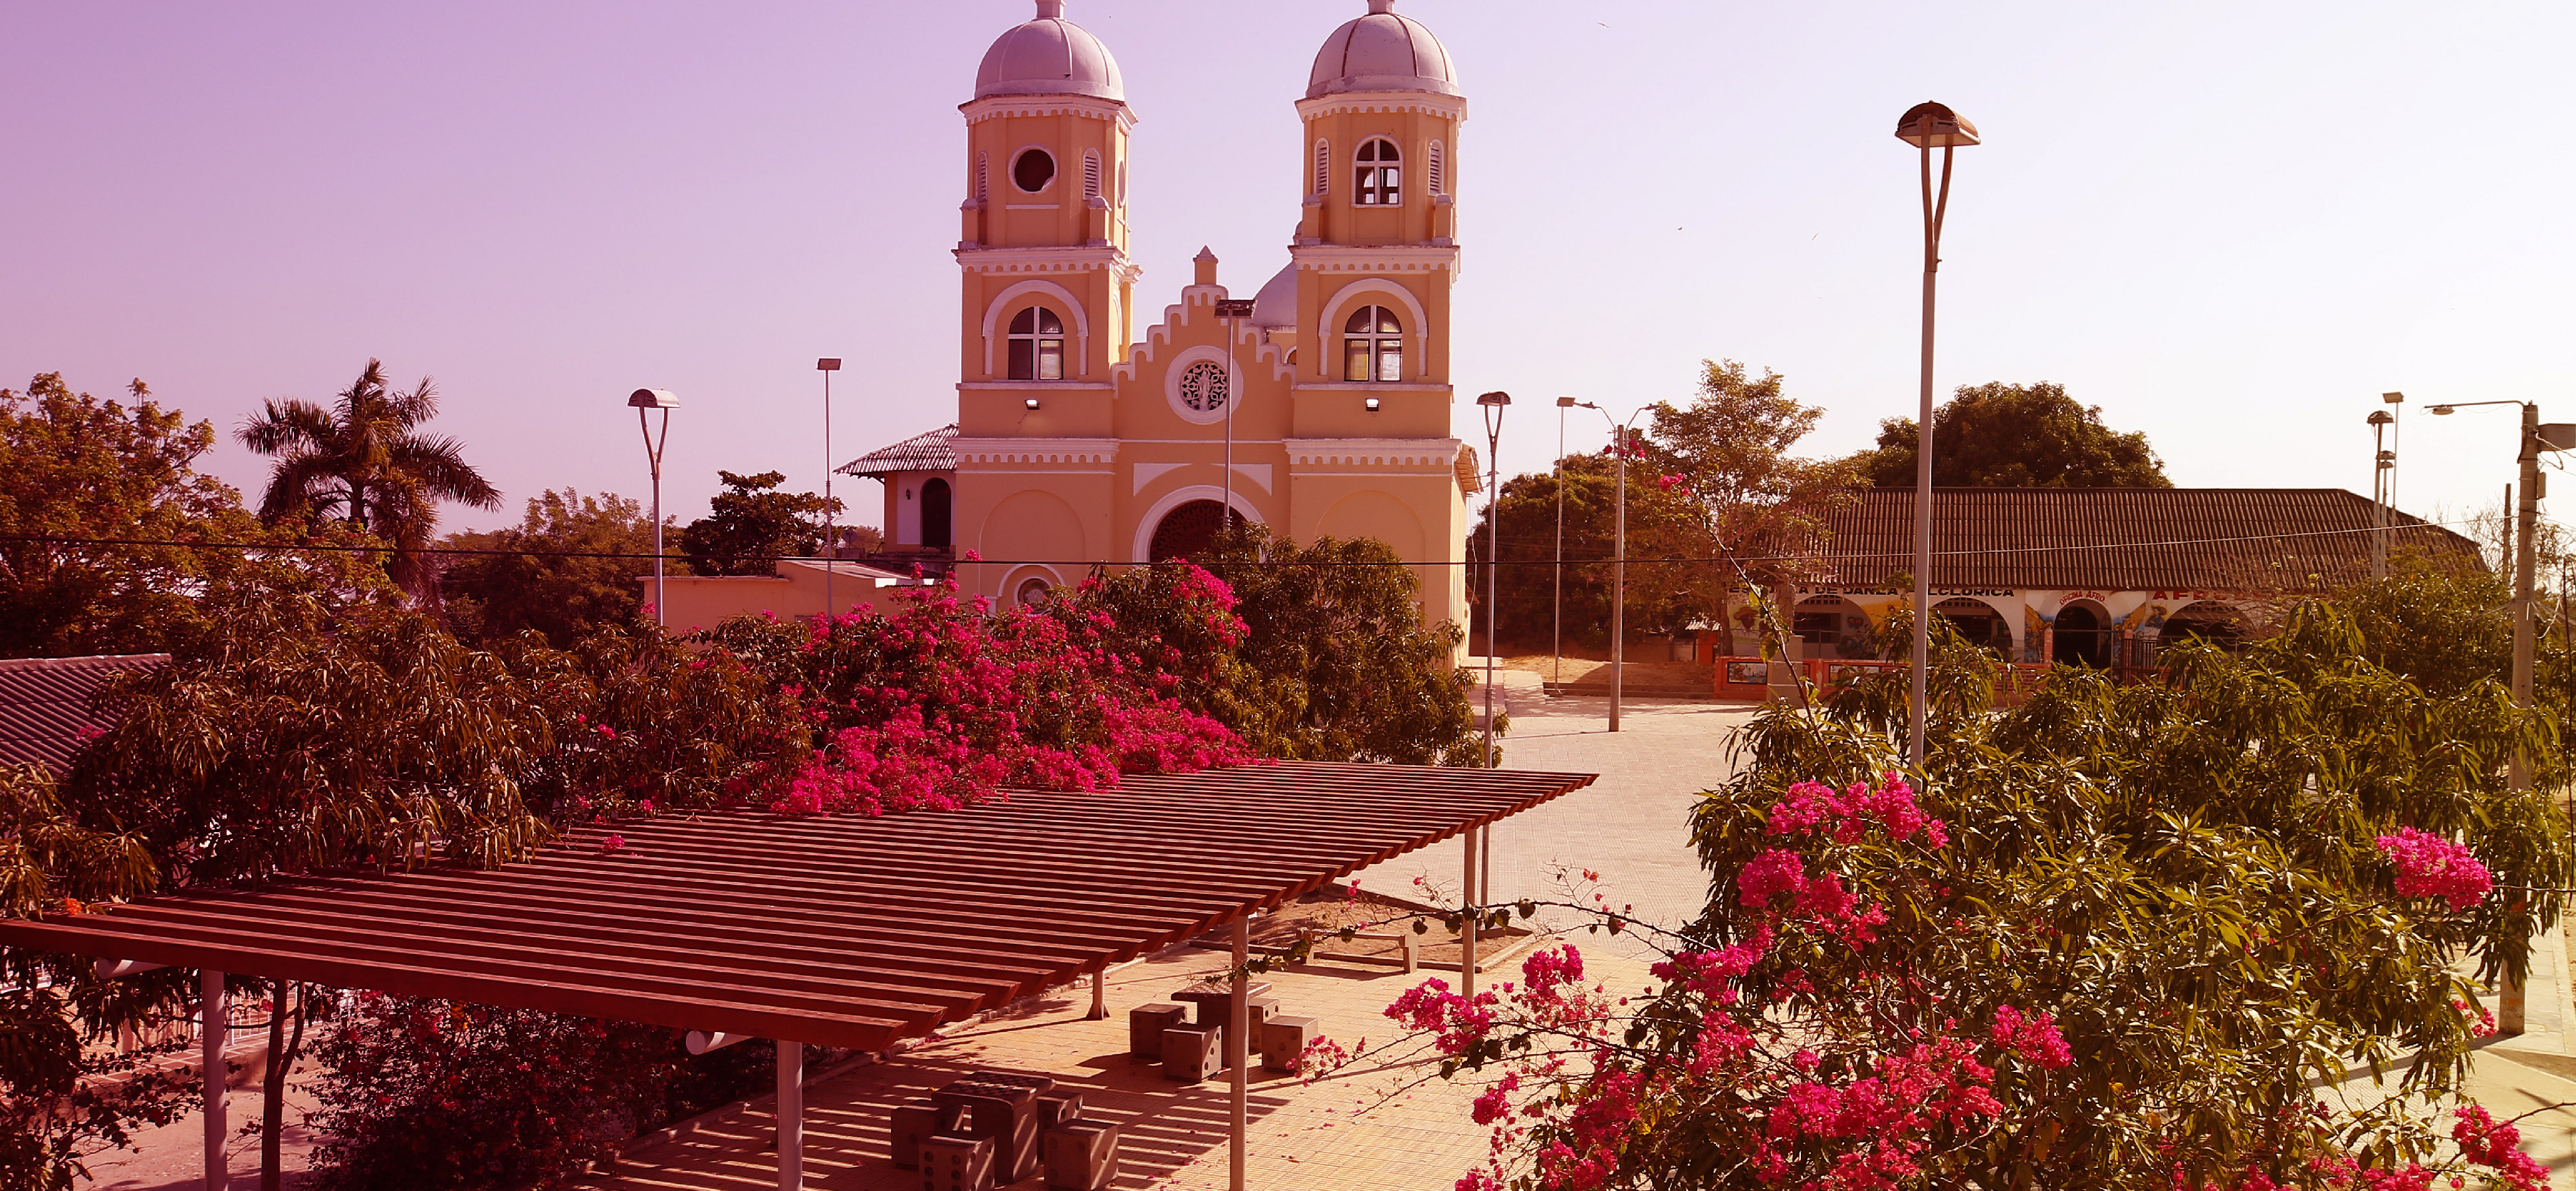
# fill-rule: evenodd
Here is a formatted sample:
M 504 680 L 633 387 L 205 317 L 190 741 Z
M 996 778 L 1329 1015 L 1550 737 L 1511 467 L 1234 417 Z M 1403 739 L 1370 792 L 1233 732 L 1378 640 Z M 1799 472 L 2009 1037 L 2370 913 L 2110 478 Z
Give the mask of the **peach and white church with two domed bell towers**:
M 1200 250 L 1177 299 L 1139 315 L 1136 113 L 1061 0 L 992 44 L 961 113 L 956 423 L 840 469 L 886 482 L 889 554 L 953 559 L 961 588 L 1020 603 L 1188 554 L 1231 508 L 1301 544 L 1386 541 L 1422 562 L 1425 619 L 1463 624 L 1466 101 L 1432 31 L 1368 0 L 1324 39 L 1296 101 L 1288 260 L 1249 304 Z

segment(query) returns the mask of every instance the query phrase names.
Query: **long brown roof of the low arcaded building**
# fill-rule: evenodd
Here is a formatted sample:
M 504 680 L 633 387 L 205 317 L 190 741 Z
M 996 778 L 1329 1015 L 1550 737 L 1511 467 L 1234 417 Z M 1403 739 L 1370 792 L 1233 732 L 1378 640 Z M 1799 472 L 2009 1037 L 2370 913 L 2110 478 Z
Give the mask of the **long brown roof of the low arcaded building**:
M 1932 585 L 1996 590 L 2329 590 L 2370 577 L 2370 498 L 2342 487 L 1937 487 Z M 1914 490 L 1824 518 L 1832 583 L 1914 570 Z M 2388 549 L 2478 557 L 2391 510 Z

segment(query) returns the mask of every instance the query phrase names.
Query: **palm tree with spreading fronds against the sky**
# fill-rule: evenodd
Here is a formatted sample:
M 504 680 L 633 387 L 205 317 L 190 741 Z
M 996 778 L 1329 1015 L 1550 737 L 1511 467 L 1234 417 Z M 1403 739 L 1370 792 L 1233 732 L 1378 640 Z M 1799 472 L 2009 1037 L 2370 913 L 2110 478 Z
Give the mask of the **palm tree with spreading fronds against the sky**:
M 384 361 L 366 361 L 330 410 L 270 397 L 237 431 L 242 446 L 278 461 L 260 492 L 260 521 L 340 518 L 392 544 L 394 583 L 428 598 L 435 567 L 422 549 L 438 528 L 438 503 L 500 508 L 500 490 L 466 467 L 464 443 L 420 431 L 435 415 L 430 379 L 412 392 L 392 389 Z

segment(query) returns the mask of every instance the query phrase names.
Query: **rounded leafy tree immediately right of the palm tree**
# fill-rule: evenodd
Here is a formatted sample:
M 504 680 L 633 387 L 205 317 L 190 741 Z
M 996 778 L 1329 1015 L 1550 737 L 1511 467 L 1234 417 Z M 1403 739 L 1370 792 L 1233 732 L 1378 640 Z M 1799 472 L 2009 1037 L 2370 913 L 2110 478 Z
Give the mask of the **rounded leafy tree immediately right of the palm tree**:
M 652 518 L 616 492 L 585 498 L 569 487 L 549 490 L 528 500 L 518 526 L 448 534 L 440 544 L 497 552 L 451 554 L 440 567 L 440 611 L 466 642 L 533 629 L 569 647 L 590 629 L 634 621 L 644 608 L 636 575 L 652 572 Z M 677 557 L 670 570 L 685 572 Z

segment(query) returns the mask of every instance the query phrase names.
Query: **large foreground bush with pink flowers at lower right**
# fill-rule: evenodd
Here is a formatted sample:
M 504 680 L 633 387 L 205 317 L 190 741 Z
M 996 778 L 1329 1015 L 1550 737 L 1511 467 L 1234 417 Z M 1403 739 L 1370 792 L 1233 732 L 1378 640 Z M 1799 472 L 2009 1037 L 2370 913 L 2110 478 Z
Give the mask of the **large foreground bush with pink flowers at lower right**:
M 2308 606 L 2002 714 L 1947 673 L 1922 784 L 1868 688 L 1767 709 L 1692 815 L 1695 923 L 1551 902 L 1659 951 L 1643 998 L 1556 946 L 1406 992 L 1378 1054 L 1484 1080 L 1461 1188 L 2540 1188 L 2512 1124 L 2421 1106 L 2555 918 L 2566 822 L 2506 789 L 2535 737 L 2494 691 L 2427 696 L 2347 637 Z M 2393 1088 L 2321 1103 L 2354 1062 Z

